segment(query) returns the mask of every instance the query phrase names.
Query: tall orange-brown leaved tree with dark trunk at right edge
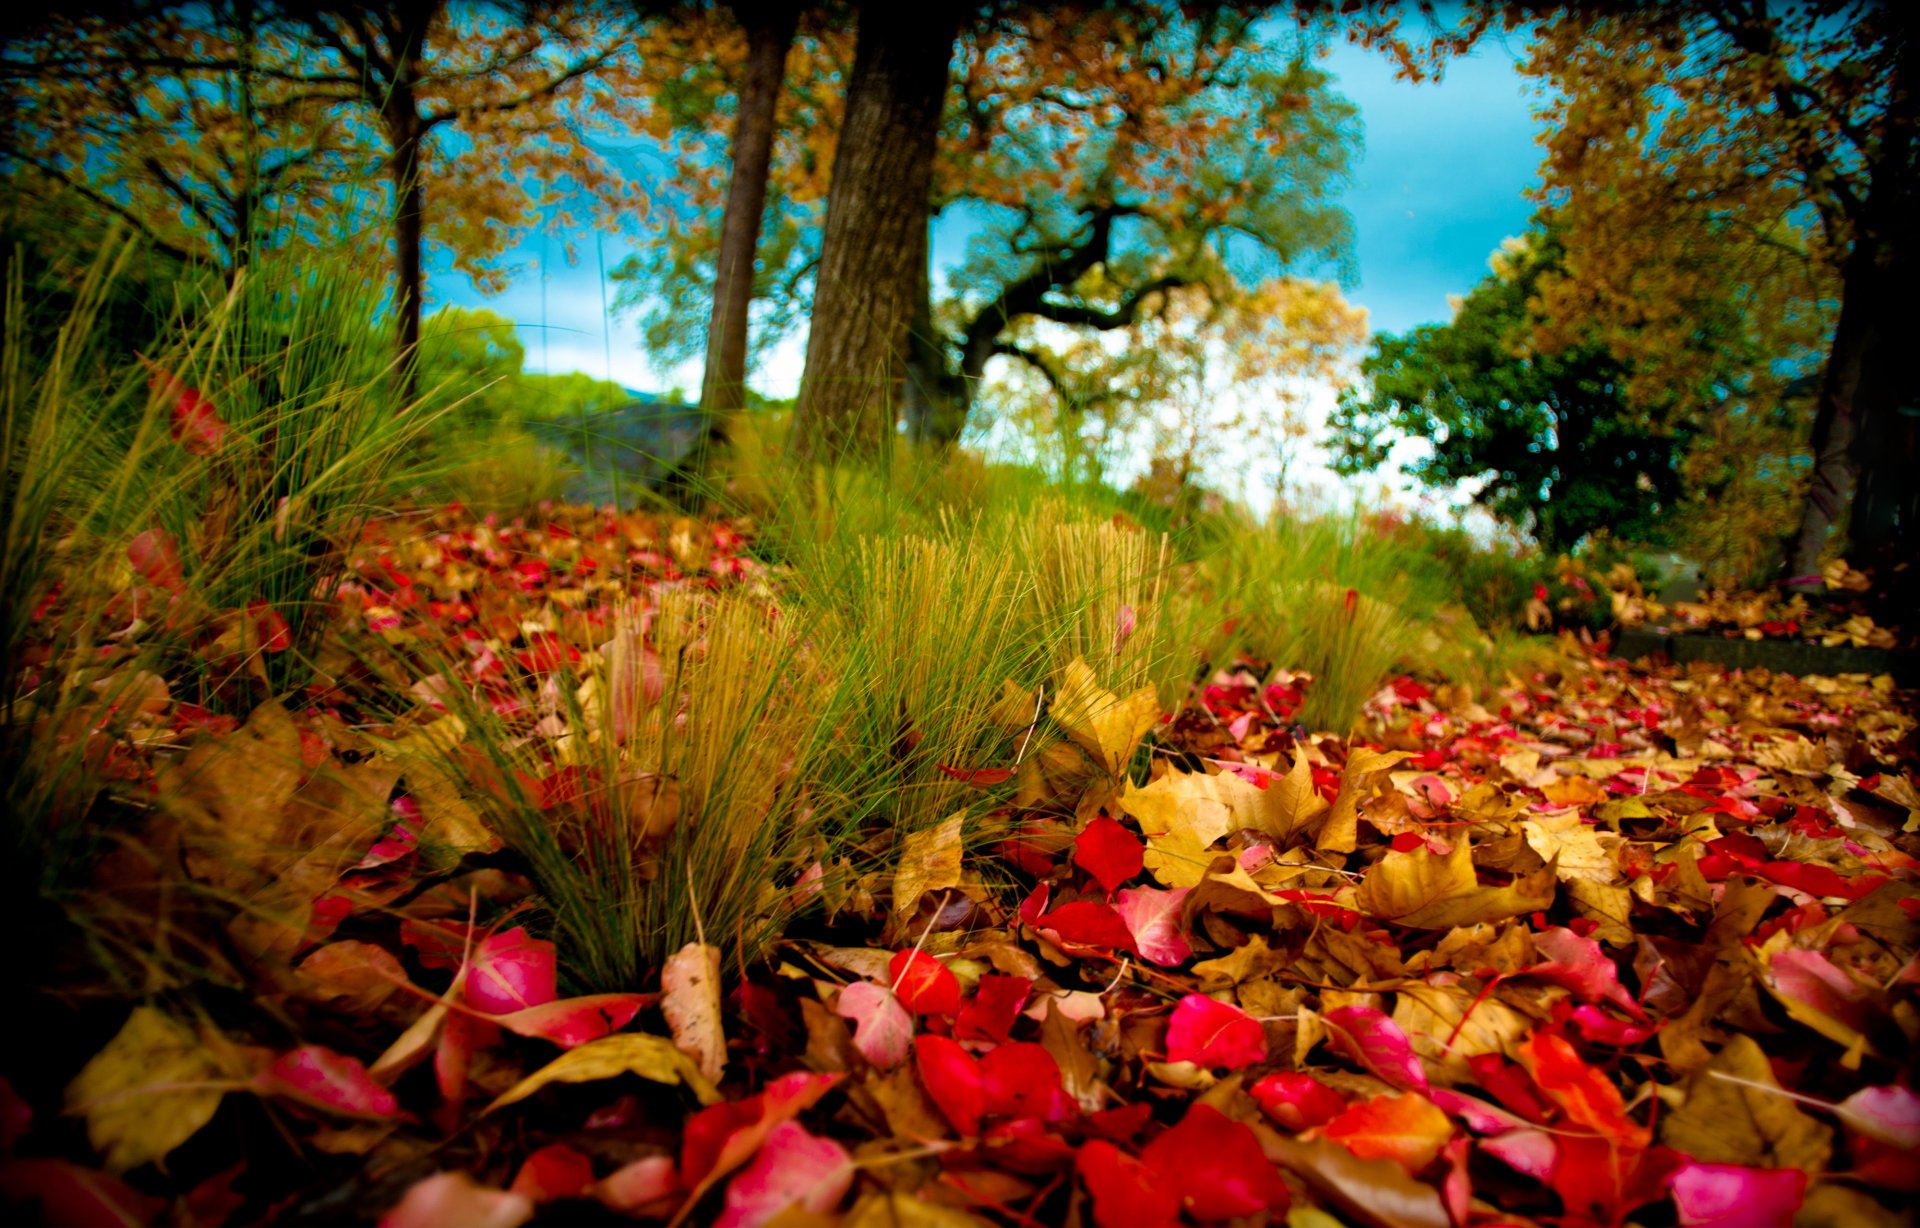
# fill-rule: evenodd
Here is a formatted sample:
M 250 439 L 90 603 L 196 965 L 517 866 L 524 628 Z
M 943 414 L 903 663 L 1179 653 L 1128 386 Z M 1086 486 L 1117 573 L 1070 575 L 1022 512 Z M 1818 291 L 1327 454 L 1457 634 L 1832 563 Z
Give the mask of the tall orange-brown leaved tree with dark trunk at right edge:
M 1532 23 L 1526 71 L 1551 86 L 1542 196 L 1567 261 L 1542 286 L 1546 317 L 1642 355 L 1686 330 L 1697 294 L 1728 286 L 1757 320 L 1818 320 L 1812 480 L 1788 576 L 1814 583 L 1841 516 L 1859 553 L 1912 558 L 1920 416 L 1901 351 L 1920 336 L 1920 40 L 1907 6 L 1480 4 L 1428 44 L 1430 61 L 1500 19 Z M 1361 31 L 1423 67 L 1384 21 Z

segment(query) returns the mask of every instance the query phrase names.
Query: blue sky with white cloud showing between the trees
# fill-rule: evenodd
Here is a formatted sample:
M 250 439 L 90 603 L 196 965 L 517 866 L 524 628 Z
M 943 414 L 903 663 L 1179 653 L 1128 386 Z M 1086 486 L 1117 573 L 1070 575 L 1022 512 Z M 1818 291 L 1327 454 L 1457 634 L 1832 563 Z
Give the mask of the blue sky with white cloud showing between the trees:
M 1532 215 L 1524 192 L 1538 178 L 1538 123 L 1530 86 L 1515 69 L 1515 50 L 1490 38 L 1455 61 L 1444 81 L 1428 84 L 1394 81 L 1386 56 L 1346 42 L 1334 46 L 1325 65 L 1336 88 L 1359 106 L 1363 127 L 1363 148 L 1344 196 L 1354 215 L 1357 267 L 1346 294 L 1367 307 L 1379 332 L 1446 320 L 1448 295 L 1480 280 L 1500 240 L 1521 234 Z M 962 224 L 935 230 L 935 263 L 958 257 Z M 580 257 L 572 265 L 563 255 L 568 240 Z M 520 271 L 507 292 L 482 295 L 461 274 L 440 269 L 430 274 L 428 294 L 432 305 L 488 307 L 516 320 L 530 370 L 584 370 L 636 390 L 678 386 L 693 395 L 697 365 L 655 368 L 634 317 L 607 319 L 601 309 L 612 297 L 601 271 L 612 269 L 634 242 L 645 242 L 645 234 L 534 234 L 509 255 Z M 804 338 L 776 347 L 755 372 L 755 388 L 791 395 L 803 351 Z M 1309 413 L 1325 414 L 1332 390 L 1321 390 L 1313 401 Z M 1331 489 L 1325 457 L 1304 460 L 1308 485 Z M 1404 489 L 1398 482 L 1388 485 Z

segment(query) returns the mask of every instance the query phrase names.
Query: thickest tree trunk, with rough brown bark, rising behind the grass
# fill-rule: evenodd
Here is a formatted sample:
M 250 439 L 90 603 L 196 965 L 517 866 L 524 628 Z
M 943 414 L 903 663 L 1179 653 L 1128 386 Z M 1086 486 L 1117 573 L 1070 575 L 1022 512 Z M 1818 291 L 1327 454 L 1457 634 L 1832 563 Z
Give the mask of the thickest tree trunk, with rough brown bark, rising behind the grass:
M 803 459 L 879 457 L 893 434 L 958 31 L 950 0 L 860 6 L 793 424 Z

